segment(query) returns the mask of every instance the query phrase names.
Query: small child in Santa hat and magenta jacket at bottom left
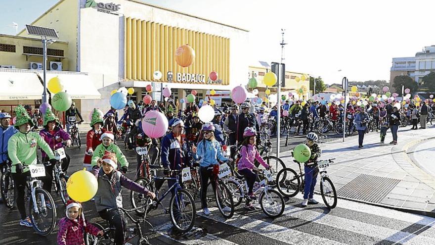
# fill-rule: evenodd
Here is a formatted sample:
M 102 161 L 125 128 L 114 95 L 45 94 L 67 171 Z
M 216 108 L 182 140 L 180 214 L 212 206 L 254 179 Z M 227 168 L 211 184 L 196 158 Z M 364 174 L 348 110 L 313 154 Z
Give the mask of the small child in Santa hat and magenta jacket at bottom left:
M 85 233 L 102 236 L 104 233 L 85 220 L 82 205 L 69 200 L 65 210 L 66 217 L 59 221 L 57 232 L 58 245 L 85 245 Z

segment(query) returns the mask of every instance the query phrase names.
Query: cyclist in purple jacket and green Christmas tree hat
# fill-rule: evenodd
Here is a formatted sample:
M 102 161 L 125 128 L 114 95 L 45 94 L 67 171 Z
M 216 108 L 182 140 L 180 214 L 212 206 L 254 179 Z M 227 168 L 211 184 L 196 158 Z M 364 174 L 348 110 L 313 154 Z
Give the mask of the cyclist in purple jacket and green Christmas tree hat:
M 71 146 L 71 136 L 63 131 L 59 127 L 59 119 L 54 115 L 51 110 L 47 110 L 44 115 L 44 129 L 39 132 L 39 135 L 44 139 L 44 141 L 50 146 L 51 150 L 57 150 L 62 148 L 65 144 L 66 147 Z M 43 151 L 42 152 L 43 162 L 47 162 L 49 157 Z M 70 156 L 65 152 L 65 158 L 61 160 L 62 171 L 66 173 L 68 166 L 70 165 Z M 43 179 L 44 190 L 48 193 L 51 192 L 51 184 L 53 180 L 53 165 L 45 165 L 45 178 Z

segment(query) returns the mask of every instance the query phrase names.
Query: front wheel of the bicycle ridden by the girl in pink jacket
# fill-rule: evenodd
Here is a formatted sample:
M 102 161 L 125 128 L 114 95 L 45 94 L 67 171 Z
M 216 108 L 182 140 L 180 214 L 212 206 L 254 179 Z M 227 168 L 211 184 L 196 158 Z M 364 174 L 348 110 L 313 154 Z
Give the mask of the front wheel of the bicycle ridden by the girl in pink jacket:
M 271 218 L 279 217 L 284 213 L 284 198 L 275 190 L 263 191 L 260 196 L 260 205 L 261 210 Z

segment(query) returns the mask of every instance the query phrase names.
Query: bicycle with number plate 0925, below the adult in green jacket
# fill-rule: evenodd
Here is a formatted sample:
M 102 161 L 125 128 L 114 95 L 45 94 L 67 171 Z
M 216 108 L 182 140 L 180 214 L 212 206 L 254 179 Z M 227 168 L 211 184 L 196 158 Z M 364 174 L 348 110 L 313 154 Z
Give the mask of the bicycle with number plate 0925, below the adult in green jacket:
M 33 229 L 41 236 L 48 236 L 56 226 L 57 213 L 53 197 L 42 188 L 42 181 L 38 179 L 45 177 L 45 167 L 43 164 L 35 164 L 23 165 L 23 168 L 30 171 L 30 177 L 27 177 L 27 190 Z

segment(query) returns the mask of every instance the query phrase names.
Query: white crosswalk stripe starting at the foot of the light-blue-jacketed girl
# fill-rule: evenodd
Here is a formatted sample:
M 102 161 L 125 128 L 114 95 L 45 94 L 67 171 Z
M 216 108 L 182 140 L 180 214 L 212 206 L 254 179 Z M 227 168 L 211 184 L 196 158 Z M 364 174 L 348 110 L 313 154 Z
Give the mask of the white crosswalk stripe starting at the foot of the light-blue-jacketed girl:
M 234 214 L 230 219 L 223 218 L 217 208 L 209 208 L 213 215 L 204 216 L 200 211 L 197 212 L 198 215 L 212 219 L 239 229 L 243 229 L 249 232 L 260 234 L 263 237 L 267 237 L 276 241 L 298 244 L 298 245 L 342 245 L 343 243 L 325 239 L 322 237 L 314 236 L 311 234 L 306 234 L 297 230 L 289 229 L 280 225 L 275 225 L 266 221 L 261 221 L 248 216 Z

